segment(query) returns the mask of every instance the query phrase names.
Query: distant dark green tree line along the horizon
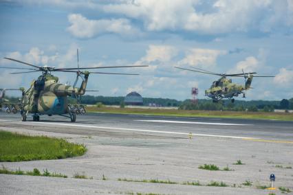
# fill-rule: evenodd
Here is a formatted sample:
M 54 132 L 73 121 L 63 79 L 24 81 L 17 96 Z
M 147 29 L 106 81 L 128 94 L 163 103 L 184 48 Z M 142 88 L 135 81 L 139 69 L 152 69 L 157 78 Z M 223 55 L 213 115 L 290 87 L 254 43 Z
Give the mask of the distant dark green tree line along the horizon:
M 19 98 L 6 97 L 11 102 L 17 102 Z M 121 105 L 124 102 L 123 96 L 94 96 L 83 95 L 83 104 L 97 104 L 100 102 L 104 105 Z M 218 103 L 213 103 L 211 100 L 198 100 L 195 104 L 192 100 L 175 100 L 169 98 L 143 98 L 144 106 L 153 104 L 155 106 L 176 106 L 183 110 L 207 110 L 207 111 L 274 111 L 274 109 L 293 109 L 293 98 L 290 100 L 283 99 L 281 101 L 269 100 L 235 100 L 234 104 L 230 100 L 221 100 Z M 69 103 L 73 104 L 76 101 L 69 98 Z

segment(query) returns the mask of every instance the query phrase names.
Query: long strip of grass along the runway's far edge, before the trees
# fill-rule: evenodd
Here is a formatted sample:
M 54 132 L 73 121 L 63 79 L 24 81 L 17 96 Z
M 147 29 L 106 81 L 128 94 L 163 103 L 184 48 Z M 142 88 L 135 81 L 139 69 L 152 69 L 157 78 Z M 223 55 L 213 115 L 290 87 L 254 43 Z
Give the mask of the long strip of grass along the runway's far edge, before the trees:
M 184 111 L 162 108 L 114 108 L 102 106 L 87 106 L 89 113 L 116 113 L 133 115 L 164 115 L 175 117 L 220 117 L 235 119 L 278 119 L 293 121 L 293 113 L 266 113 L 266 112 L 236 112 L 236 111 Z

